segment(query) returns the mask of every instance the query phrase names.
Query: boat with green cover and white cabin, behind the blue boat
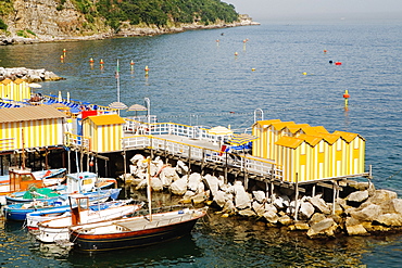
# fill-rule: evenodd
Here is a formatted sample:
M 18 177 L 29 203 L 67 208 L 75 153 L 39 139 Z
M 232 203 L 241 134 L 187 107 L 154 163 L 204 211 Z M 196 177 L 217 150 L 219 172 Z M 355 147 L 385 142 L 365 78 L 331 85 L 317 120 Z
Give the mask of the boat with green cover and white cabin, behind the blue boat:
M 43 190 L 38 190 L 36 184 L 29 184 L 29 188 L 25 188 L 26 191 L 13 192 L 5 195 L 5 201 L 8 204 L 30 203 L 35 200 L 46 201 L 49 199 L 54 199 L 60 194 L 68 194 L 74 192 L 85 193 L 95 191 L 97 189 L 106 189 L 111 187 L 116 188 L 117 186 L 117 181 L 115 179 L 98 178 L 97 174 L 89 171 L 67 174 L 65 177 L 66 184 L 47 188 Z

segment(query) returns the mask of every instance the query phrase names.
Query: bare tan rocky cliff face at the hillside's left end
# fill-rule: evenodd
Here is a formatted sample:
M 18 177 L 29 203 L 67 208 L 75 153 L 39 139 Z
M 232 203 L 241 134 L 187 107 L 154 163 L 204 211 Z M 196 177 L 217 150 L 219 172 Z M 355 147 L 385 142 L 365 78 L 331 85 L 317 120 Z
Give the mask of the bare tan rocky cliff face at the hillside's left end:
M 91 36 L 110 33 L 100 18 L 88 23 L 71 0 L 62 9 L 53 0 L 15 0 L 14 12 L 3 18 L 8 31 L 38 39 Z

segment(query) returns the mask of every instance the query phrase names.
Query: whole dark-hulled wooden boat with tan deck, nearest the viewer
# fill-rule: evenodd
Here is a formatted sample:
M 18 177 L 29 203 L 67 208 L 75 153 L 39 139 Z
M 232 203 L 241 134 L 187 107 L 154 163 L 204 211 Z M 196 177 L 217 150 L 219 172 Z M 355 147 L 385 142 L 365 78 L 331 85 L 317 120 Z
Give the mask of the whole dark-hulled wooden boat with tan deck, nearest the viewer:
M 70 228 L 74 250 L 85 252 L 143 247 L 189 234 L 206 208 L 184 208 Z

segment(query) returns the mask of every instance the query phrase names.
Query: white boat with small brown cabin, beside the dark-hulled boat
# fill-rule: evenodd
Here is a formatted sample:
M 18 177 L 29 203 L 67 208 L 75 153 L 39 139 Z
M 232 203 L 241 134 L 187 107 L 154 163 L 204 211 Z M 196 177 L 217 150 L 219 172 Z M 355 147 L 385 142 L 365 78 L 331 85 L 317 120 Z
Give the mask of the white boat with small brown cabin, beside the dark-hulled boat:
M 83 195 L 70 196 L 70 200 L 71 215 L 39 222 L 38 233 L 35 235 L 37 240 L 43 243 L 68 241 L 68 227 L 118 219 L 133 215 L 143 205 L 143 202 L 137 202 L 130 205 L 124 205 L 122 203 L 121 205 L 114 205 L 101 209 L 100 204 L 98 208 L 97 206 L 90 206 L 88 197 Z

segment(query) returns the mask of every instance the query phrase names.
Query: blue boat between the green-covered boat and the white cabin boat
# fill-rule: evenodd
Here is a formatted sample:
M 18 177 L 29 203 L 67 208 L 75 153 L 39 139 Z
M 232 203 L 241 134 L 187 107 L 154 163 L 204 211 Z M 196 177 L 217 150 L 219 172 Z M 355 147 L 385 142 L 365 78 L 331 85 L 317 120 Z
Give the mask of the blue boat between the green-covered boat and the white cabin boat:
M 121 190 L 122 189 L 108 189 L 108 190 L 99 190 L 96 192 L 87 192 L 83 194 L 85 196 L 88 196 L 90 202 L 103 202 L 111 197 L 116 199 Z M 74 195 L 74 193 L 73 194 L 62 194 L 62 195 L 59 195 L 52 199 L 36 200 L 36 201 L 28 202 L 28 203 L 20 202 L 20 203 L 9 204 L 3 207 L 3 215 L 7 220 L 24 221 L 28 213 L 33 213 L 39 209 L 43 210 L 43 209 L 70 207 L 70 204 L 68 204 L 70 195 Z

